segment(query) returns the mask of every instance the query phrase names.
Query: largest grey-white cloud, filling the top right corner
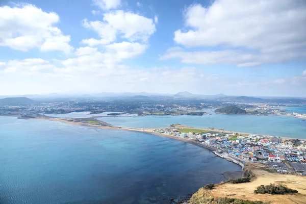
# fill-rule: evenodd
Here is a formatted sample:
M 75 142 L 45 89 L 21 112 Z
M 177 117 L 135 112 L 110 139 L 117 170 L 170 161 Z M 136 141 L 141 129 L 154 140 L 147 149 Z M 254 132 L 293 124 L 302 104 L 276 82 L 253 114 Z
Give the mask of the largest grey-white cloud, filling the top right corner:
M 174 41 L 187 48 L 206 48 L 202 60 L 199 56 L 182 59 L 188 63 L 210 64 L 209 61 L 251 66 L 306 57 L 303 0 L 216 0 L 209 7 L 190 5 L 184 18 L 186 28 L 174 32 Z M 207 51 L 211 48 L 217 51 Z M 233 60 L 237 55 L 249 60 Z

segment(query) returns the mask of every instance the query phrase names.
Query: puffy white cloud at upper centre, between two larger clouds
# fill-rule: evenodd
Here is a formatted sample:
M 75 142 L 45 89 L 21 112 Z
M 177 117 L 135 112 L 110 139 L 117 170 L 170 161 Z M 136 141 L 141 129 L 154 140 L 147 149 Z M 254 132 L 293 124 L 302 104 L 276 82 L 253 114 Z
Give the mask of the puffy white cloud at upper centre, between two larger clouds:
M 94 38 L 82 40 L 82 43 L 89 46 L 112 43 L 117 39 L 117 35 L 131 42 L 146 42 L 150 35 L 156 31 L 152 19 L 122 10 L 105 13 L 103 21 L 84 19 L 82 24 L 85 28 L 97 32 L 101 38 L 99 40 Z

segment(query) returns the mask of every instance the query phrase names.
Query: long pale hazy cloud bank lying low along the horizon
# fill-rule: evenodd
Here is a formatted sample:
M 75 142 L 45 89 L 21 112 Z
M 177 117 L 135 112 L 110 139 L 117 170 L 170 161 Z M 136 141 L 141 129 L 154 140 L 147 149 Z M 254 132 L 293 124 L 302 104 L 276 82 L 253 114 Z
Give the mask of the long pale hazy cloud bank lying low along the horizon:
M 112 48 L 115 49 L 117 55 L 108 51 L 104 53 L 96 51 L 88 55 L 58 61 L 61 63 L 60 67 L 43 59 L 8 61 L 3 64 L 4 68 L 0 69 L 0 87 L 8 87 L 2 90 L 1 94 L 59 91 L 130 92 L 131 90 L 133 92 L 175 93 L 189 90 L 199 94 L 222 92 L 236 95 L 252 93 L 252 95 L 305 96 L 303 89 L 306 85 L 306 77 L 302 74 L 292 78 L 263 81 L 208 74 L 194 67 L 148 67 L 144 69 L 124 66 L 120 64 L 120 61 L 115 60 L 119 57 L 121 59 L 133 57 L 126 56 L 128 54 L 124 53 L 124 50 L 129 50 L 124 47 L 129 46 L 113 45 Z M 16 83 L 18 87 L 15 86 Z M 201 86 L 203 84 L 205 84 L 204 90 Z M 281 91 L 275 92 L 275 90 Z

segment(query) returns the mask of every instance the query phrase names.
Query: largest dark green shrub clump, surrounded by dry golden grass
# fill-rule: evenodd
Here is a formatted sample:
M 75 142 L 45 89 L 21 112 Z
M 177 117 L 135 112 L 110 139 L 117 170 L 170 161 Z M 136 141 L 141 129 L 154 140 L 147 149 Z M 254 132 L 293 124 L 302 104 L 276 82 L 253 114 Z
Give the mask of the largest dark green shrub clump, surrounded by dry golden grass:
M 256 190 L 254 190 L 254 193 L 260 193 L 260 194 L 272 194 L 272 195 L 284 195 L 284 194 L 290 194 L 290 193 L 297 193 L 297 190 L 287 188 L 286 186 L 275 184 L 270 185 L 261 185 Z

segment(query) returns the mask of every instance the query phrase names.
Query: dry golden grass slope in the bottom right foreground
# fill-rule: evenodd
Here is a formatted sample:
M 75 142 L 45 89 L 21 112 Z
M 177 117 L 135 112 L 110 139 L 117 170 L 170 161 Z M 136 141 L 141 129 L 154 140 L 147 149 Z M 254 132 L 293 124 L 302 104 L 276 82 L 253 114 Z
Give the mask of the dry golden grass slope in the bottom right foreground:
M 271 172 L 262 164 L 249 163 L 246 169 L 251 169 L 254 177 L 250 183 L 217 184 L 213 190 L 199 189 L 191 198 L 191 204 L 214 204 L 218 198 L 237 198 L 250 201 L 263 201 L 266 203 L 305 203 L 306 204 L 306 177 L 298 175 L 284 175 Z M 260 185 L 283 185 L 295 189 L 299 193 L 293 195 L 255 194 L 254 190 Z M 225 203 L 225 202 L 223 202 Z M 231 202 L 239 203 L 239 202 Z M 245 202 L 247 203 L 247 202 Z

